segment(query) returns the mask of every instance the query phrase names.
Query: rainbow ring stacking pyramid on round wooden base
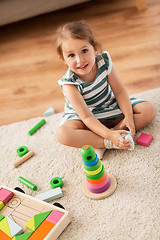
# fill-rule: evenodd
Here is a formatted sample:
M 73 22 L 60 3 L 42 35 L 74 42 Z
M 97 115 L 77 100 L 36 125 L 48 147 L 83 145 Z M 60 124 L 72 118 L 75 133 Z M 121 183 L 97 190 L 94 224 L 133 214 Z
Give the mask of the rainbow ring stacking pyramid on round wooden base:
M 83 193 L 88 198 L 95 200 L 109 197 L 117 187 L 115 177 L 110 173 L 106 173 L 92 146 L 83 146 L 81 156 L 86 175 L 86 180 L 82 185 Z

